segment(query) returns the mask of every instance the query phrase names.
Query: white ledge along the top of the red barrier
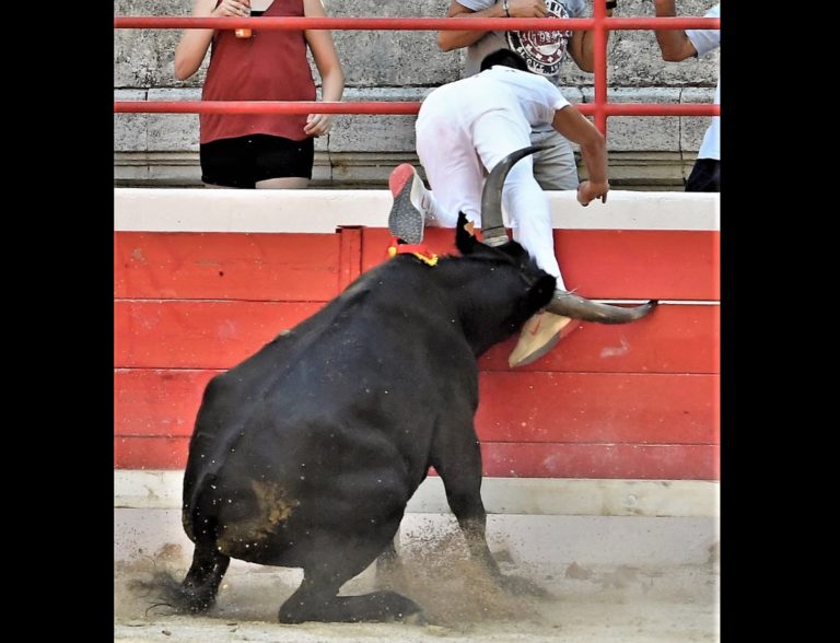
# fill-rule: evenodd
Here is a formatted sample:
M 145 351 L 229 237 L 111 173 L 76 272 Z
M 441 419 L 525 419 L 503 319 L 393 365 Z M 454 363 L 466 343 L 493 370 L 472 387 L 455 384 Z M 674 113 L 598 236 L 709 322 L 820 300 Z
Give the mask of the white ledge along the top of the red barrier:
M 582 208 L 547 192 L 553 225 L 586 230 L 720 230 L 720 195 L 610 190 Z M 192 190 L 115 188 L 114 229 L 155 232 L 335 232 L 387 227 L 388 190 Z

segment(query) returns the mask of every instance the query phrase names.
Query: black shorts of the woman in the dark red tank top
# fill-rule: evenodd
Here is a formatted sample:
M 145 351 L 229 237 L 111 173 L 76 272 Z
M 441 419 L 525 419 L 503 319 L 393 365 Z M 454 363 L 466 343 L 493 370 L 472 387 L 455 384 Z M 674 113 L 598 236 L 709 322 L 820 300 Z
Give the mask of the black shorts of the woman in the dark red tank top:
M 254 188 L 269 178 L 312 178 L 315 139 L 292 141 L 250 135 L 201 143 L 201 180 L 224 187 Z

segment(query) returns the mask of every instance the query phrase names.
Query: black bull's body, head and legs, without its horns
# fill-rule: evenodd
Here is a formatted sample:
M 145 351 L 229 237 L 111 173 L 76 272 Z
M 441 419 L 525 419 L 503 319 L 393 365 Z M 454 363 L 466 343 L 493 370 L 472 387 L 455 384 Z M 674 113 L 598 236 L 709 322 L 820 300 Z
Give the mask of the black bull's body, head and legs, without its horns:
M 394 592 L 338 592 L 393 556 L 429 467 L 471 557 L 509 584 L 485 537 L 477 358 L 545 307 L 556 280 L 517 243 L 490 247 L 464 223 L 462 257 L 399 255 L 209 383 L 184 477 L 194 560 L 170 604 L 210 607 L 236 558 L 303 568 L 281 622 L 420 612 Z

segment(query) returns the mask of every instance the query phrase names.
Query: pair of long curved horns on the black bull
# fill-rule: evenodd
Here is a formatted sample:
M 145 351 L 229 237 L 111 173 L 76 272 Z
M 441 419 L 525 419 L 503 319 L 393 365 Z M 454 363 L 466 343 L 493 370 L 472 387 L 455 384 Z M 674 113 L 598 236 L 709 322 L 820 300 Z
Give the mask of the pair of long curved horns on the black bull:
M 504 186 L 504 179 L 514 163 L 542 149 L 545 149 L 542 145 L 530 145 L 508 154 L 493 167 L 493 171 L 487 178 L 483 192 L 481 194 L 481 231 L 486 245 L 503 249 L 506 244 L 511 243 L 502 221 L 502 187 Z M 460 229 L 462 225 L 459 224 L 458 227 Z M 546 309 L 558 315 L 572 317 L 573 319 L 583 319 L 584 322 L 627 324 L 628 322 L 641 319 L 650 314 L 654 307 L 656 307 L 656 302 L 653 300 L 641 306 L 622 308 L 620 306 L 599 304 L 557 289 Z

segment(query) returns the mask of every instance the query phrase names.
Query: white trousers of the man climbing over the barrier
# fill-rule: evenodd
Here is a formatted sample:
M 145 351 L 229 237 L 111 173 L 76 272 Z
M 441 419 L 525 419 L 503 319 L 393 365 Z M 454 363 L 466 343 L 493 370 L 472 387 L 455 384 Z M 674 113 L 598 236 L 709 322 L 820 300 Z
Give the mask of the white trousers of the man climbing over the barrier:
M 481 225 L 481 189 L 489 171 L 504 156 L 530 145 L 527 121 L 503 110 L 479 117 L 471 131 L 453 126 L 452 119 L 423 114 L 417 121 L 417 154 L 433 190 L 434 220 L 454 227 L 458 211 Z M 530 156 L 512 168 L 502 190 L 513 238 L 534 257 L 537 266 L 557 277 L 565 290 L 555 256 L 553 229 L 548 198 L 534 178 Z

